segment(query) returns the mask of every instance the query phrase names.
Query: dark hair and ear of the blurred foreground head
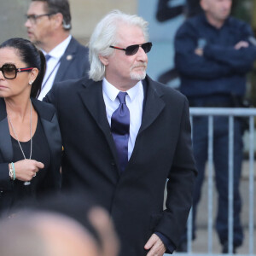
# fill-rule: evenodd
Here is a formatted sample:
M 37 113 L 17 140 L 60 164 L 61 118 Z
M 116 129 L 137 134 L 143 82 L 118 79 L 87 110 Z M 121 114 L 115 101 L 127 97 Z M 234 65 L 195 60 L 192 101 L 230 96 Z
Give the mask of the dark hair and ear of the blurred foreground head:
M 25 211 L 53 212 L 73 218 L 90 233 L 98 244 L 100 256 L 117 256 L 119 253 L 119 239 L 115 233 L 113 223 L 95 198 L 85 195 L 83 189 L 72 193 L 46 195 L 39 201 L 26 201 Z M 21 208 L 15 209 L 19 212 Z

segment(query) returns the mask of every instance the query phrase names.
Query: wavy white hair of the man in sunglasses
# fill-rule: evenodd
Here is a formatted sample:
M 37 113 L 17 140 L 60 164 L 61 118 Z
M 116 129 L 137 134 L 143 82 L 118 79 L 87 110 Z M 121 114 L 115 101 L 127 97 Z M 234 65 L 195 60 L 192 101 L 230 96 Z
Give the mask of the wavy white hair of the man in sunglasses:
M 113 54 L 110 45 L 118 44 L 117 30 L 120 23 L 131 26 L 138 26 L 142 29 L 144 38 L 148 41 L 148 22 L 137 15 L 126 15 L 118 9 L 108 13 L 96 26 L 90 37 L 89 58 L 90 71 L 89 77 L 94 81 L 101 81 L 105 75 L 105 66 L 99 59 L 99 55 L 109 56 Z

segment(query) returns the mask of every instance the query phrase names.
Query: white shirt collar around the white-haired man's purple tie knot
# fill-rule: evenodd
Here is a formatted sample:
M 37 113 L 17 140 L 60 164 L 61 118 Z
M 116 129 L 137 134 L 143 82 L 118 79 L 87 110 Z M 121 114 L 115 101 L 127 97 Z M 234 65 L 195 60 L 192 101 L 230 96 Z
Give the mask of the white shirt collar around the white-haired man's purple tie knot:
M 131 102 L 136 98 L 140 89 L 143 89 L 142 81 L 138 81 L 136 85 L 131 87 L 131 89 L 126 90 L 128 96 L 130 97 Z M 102 81 L 102 90 L 112 102 L 115 101 L 120 91 L 116 87 L 114 87 L 113 84 L 110 84 L 108 80 L 105 78 Z

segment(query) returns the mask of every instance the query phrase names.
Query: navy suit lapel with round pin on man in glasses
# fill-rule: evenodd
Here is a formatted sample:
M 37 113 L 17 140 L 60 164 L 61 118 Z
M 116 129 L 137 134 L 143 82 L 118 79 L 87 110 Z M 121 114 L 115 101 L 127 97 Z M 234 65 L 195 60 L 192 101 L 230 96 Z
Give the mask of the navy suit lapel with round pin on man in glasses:
M 58 69 L 58 72 L 56 73 L 54 84 L 56 82 L 61 81 L 62 77 L 67 72 L 67 68 L 73 62 L 73 58 L 75 58 L 75 53 L 76 53 L 75 41 L 74 41 L 74 38 L 71 38 L 70 43 L 67 46 L 67 49 L 65 50 L 64 54 L 61 56 L 61 64 Z

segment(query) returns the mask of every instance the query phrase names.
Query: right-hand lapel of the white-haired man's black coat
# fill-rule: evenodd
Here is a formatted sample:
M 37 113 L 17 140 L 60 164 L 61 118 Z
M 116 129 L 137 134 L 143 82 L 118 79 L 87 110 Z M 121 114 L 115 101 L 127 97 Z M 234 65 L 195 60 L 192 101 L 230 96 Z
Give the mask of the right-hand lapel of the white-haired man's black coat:
M 155 86 L 155 83 L 148 78 L 143 81 L 143 87 L 146 89 L 144 104 L 143 104 L 143 119 L 142 125 L 138 132 L 140 134 L 148 126 L 152 125 L 154 120 L 160 115 L 165 108 L 166 103 L 161 99 L 162 92 Z

